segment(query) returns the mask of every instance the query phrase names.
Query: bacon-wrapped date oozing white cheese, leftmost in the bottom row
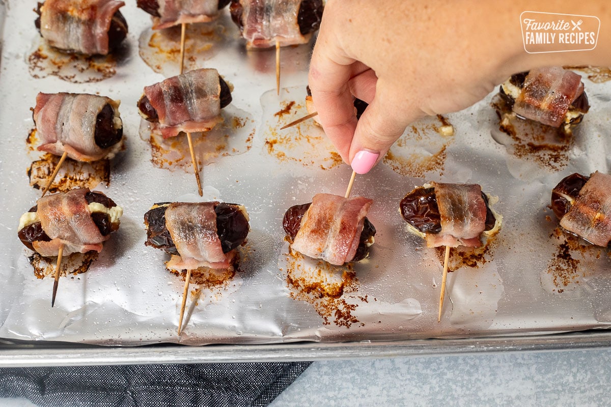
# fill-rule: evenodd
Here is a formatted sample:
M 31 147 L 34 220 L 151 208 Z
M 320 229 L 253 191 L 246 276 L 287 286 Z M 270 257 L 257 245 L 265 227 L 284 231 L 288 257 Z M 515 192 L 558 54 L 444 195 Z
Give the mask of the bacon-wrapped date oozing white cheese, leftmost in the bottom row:
M 64 245 L 64 254 L 99 253 L 102 242 L 119 229 L 122 213 L 121 207 L 100 192 L 75 189 L 56 193 L 40 198 L 37 206 L 24 214 L 31 222 L 20 227 L 19 235 L 27 247 L 45 257 L 57 256 L 60 245 Z

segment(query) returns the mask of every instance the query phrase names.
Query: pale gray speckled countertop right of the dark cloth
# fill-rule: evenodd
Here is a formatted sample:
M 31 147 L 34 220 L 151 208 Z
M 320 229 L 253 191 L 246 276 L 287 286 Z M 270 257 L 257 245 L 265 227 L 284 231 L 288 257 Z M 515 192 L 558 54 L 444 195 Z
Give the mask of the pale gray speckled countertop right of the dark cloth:
M 314 362 L 271 407 L 609 406 L 611 350 Z

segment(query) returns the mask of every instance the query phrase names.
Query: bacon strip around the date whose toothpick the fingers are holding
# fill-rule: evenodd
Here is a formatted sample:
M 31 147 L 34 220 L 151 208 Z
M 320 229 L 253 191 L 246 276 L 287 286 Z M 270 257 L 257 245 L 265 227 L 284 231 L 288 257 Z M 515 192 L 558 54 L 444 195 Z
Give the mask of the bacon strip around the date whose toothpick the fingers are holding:
M 365 215 L 372 200 L 317 193 L 301 218 L 291 248 L 335 265 L 351 261 L 359 247 Z

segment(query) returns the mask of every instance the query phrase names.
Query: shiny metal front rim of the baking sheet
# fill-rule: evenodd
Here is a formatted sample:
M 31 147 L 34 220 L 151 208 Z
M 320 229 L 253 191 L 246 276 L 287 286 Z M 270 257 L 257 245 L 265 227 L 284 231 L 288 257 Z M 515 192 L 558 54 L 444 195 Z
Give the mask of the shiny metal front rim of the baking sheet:
M 57 342 L 2 344 L 0 341 L 0 367 L 321 361 L 469 355 L 481 352 L 588 350 L 610 346 L 611 332 L 601 330 L 537 336 L 203 347 L 170 344 L 103 347 Z

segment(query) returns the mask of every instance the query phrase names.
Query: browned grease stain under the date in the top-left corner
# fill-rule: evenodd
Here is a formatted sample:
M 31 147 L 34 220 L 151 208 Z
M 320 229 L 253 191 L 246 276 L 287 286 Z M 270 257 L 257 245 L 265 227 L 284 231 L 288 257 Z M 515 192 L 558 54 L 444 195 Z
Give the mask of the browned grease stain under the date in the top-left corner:
M 46 41 L 27 57 L 27 63 L 31 76 L 36 79 L 57 76 L 66 82 L 87 83 L 100 82 L 117 73 L 117 57 L 112 54 L 67 54 L 49 46 Z

